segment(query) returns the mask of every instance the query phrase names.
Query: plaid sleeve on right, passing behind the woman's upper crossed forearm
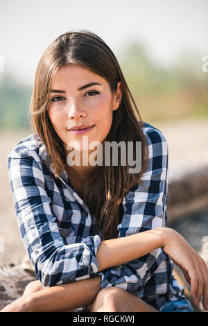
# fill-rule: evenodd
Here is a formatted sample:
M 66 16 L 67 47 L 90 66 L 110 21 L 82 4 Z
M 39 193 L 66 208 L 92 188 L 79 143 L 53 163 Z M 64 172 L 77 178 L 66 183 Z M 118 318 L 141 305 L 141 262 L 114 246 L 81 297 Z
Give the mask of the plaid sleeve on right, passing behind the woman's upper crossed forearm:
M 166 225 L 168 146 L 162 132 L 150 129 L 148 141 L 148 166 L 141 182 L 123 198 L 123 218 L 118 225 L 119 237 L 144 232 Z M 162 248 L 127 264 L 106 268 L 97 274 L 102 276 L 101 289 L 117 286 L 129 292 L 142 291 L 150 278 L 150 269 L 159 264 Z

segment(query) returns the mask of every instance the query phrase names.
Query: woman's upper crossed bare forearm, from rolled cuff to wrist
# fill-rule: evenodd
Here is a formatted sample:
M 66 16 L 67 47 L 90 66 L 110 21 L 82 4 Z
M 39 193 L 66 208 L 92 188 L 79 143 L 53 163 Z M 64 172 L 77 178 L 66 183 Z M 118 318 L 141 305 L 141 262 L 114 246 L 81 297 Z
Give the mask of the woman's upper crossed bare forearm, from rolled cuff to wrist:
M 98 272 L 105 268 L 126 264 L 128 261 L 163 247 L 167 237 L 171 234 L 170 228 L 157 228 L 128 237 L 101 241 L 96 252 Z

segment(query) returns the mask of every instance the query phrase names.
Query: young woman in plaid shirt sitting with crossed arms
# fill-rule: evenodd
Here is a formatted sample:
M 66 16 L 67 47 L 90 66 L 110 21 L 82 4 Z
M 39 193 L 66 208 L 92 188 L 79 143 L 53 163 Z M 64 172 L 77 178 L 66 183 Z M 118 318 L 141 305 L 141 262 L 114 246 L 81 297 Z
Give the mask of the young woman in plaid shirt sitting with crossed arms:
M 2 311 L 193 311 L 173 261 L 206 309 L 205 261 L 166 228 L 166 139 L 142 121 L 100 37 L 72 31 L 46 49 L 31 121 L 8 173 L 38 280 Z M 107 152 L 113 141 L 122 155 Z

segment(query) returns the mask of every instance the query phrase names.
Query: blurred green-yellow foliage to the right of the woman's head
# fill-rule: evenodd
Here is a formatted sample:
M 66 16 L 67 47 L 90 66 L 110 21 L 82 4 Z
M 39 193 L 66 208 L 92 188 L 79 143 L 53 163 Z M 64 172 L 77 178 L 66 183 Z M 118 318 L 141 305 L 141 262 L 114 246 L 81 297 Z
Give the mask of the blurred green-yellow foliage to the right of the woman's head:
M 198 55 L 182 53 L 173 67 L 164 69 L 135 40 L 125 47 L 120 63 L 145 121 L 208 117 L 208 73 Z

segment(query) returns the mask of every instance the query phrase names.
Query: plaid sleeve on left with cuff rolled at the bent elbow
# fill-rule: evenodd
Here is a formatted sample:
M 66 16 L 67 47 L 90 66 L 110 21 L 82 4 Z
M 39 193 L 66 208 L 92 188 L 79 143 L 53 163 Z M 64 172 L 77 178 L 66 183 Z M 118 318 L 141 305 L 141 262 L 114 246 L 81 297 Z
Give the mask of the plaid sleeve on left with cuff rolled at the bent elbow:
M 95 235 L 64 244 L 38 155 L 11 152 L 8 175 L 21 238 L 42 285 L 93 277 L 98 271 L 96 252 L 101 238 Z

